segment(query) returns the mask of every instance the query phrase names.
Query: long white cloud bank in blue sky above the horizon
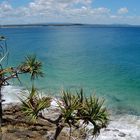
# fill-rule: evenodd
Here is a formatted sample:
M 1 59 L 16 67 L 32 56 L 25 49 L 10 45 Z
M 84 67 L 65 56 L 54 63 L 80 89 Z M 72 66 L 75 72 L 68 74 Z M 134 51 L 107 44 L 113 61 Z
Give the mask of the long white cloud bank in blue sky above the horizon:
M 0 24 L 20 23 L 130 23 L 140 21 L 138 16 L 128 16 L 128 8 L 120 7 L 116 13 L 107 7 L 94 7 L 93 0 L 34 0 L 26 6 L 14 8 L 8 2 L 0 3 Z M 131 19 L 131 20 L 130 20 Z

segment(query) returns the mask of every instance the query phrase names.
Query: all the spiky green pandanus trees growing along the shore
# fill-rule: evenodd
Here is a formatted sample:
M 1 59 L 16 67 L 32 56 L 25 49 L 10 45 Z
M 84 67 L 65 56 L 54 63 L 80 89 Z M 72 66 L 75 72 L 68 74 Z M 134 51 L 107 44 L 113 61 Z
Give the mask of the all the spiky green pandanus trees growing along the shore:
M 75 130 L 85 130 L 88 124 L 92 124 L 92 135 L 98 136 L 100 130 L 105 128 L 109 122 L 109 114 L 104 107 L 104 100 L 97 98 L 96 96 L 86 97 L 84 90 L 73 93 L 71 91 L 62 91 L 62 95 L 57 99 L 57 115 L 53 118 L 51 114 L 47 117 L 46 112 L 49 113 L 51 102 L 53 97 L 41 96 L 41 93 L 37 90 L 34 80 L 43 77 L 42 63 L 37 60 L 35 55 L 29 55 L 25 57 L 25 61 L 17 67 L 3 67 L 3 61 L 8 57 L 8 49 L 5 37 L 0 37 L 0 124 L 2 124 L 2 93 L 1 89 L 9 83 L 10 79 L 16 78 L 19 80 L 20 74 L 30 74 L 31 89 L 22 91 L 22 97 L 19 97 L 21 101 L 18 105 L 18 115 L 11 119 L 11 122 L 28 124 L 35 126 L 39 124 L 41 119 L 43 122 L 53 124 L 54 133 L 49 136 L 50 140 L 57 140 L 64 130 L 68 128 L 69 139 L 73 135 Z M 20 80 L 19 80 L 20 81 Z M 45 113 L 44 113 L 45 112 Z M 21 121 L 24 118 L 24 121 Z M 16 120 L 16 121 L 15 121 Z M 41 124 L 42 126 L 42 124 Z M 42 126 L 44 127 L 44 126 Z M 46 129 L 45 129 L 46 130 Z M 47 130 L 46 130 L 47 131 Z M 84 131 L 84 133 L 86 133 Z

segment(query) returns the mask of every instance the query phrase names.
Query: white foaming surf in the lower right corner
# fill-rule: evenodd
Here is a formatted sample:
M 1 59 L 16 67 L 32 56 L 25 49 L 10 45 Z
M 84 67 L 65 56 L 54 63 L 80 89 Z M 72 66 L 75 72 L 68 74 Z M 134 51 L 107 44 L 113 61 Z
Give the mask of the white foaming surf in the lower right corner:
M 86 140 L 93 140 L 91 125 L 87 127 L 88 136 Z M 123 115 L 112 117 L 108 127 L 101 130 L 96 140 L 140 140 L 140 117 L 134 115 Z

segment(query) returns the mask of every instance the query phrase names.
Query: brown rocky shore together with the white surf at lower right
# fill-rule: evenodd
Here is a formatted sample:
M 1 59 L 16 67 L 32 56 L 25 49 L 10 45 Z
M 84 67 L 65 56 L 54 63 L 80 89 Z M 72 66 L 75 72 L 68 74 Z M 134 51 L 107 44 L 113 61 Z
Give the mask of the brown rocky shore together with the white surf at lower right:
M 58 116 L 59 109 L 53 103 L 45 116 L 55 119 Z M 38 122 L 33 124 L 25 119 L 25 116 L 20 110 L 19 103 L 8 103 L 3 108 L 3 126 L 1 132 L 2 140 L 49 140 L 54 134 L 55 125 L 52 123 L 38 119 Z M 75 130 L 72 133 L 70 140 L 93 140 L 89 125 L 86 128 L 86 135 Z M 58 140 L 69 140 L 69 128 L 66 127 L 60 134 Z M 96 140 L 139 140 L 140 139 L 140 117 L 126 115 L 112 117 L 108 127 L 101 130 L 101 134 Z

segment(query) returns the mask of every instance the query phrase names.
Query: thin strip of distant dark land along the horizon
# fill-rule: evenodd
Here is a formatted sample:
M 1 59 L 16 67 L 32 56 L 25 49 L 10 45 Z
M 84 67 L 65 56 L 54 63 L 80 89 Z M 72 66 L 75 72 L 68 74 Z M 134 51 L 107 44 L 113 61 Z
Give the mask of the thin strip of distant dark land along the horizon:
M 33 23 L 33 24 L 0 25 L 0 28 L 44 27 L 44 26 L 140 27 L 140 25 L 130 25 L 130 24 Z

